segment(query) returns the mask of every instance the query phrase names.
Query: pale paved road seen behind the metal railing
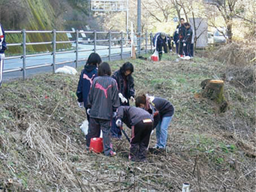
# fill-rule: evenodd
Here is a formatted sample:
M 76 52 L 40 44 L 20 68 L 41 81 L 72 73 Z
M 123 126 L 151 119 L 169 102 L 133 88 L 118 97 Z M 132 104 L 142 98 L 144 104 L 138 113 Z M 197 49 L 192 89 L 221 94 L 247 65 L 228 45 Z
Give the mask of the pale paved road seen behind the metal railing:
M 75 45 L 73 44 L 73 47 Z M 106 48 L 105 50 L 99 50 L 96 51 L 101 57 L 103 61 L 108 61 L 108 46 L 97 46 L 96 49 L 103 49 Z M 121 53 L 121 49 L 114 49 L 115 47 L 111 47 L 111 55 L 112 54 L 119 54 Z M 93 45 L 88 45 L 88 44 L 79 44 L 79 49 L 93 49 Z M 131 48 L 124 48 L 123 49 L 123 58 L 129 58 L 131 53 L 128 53 L 131 51 Z M 91 51 L 88 52 L 79 52 L 79 60 L 88 58 L 88 56 L 91 54 Z M 111 60 L 119 60 L 121 57 L 119 55 L 116 56 L 111 56 Z M 75 61 L 76 60 L 76 54 L 75 52 L 70 52 L 70 53 L 65 53 L 65 54 L 57 54 L 56 55 L 56 63 L 63 62 L 63 61 Z M 36 56 L 33 58 L 26 58 L 27 66 L 34 66 L 34 65 L 39 65 L 39 64 L 52 64 L 53 63 L 53 57 L 51 55 L 43 55 L 43 56 Z M 85 61 L 80 61 L 79 66 L 82 66 L 85 64 Z M 64 66 L 75 66 L 74 63 L 70 64 L 60 64 L 56 66 L 56 69 Z M 22 67 L 22 59 L 10 59 L 10 60 L 5 60 L 4 61 L 4 70 L 7 69 L 16 69 Z M 36 74 L 41 74 L 45 72 L 52 72 L 52 67 L 51 66 L 45 66 L 45 67 L 40 67 L 37 69 L 28 69 L 27 70 L 27 77 L 31 77 Z M 22 78 L 22 72 L 7 72 L 4 73 L 3 76 L 3 81 L 11 80 L 11 79 L 16 79 L 16 78 Z

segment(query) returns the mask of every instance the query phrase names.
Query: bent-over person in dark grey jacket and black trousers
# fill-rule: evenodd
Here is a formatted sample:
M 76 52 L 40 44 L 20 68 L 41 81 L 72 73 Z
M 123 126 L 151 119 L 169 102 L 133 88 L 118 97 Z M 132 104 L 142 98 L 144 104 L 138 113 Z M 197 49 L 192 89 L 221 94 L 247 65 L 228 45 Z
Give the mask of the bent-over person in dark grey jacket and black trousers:
M 119 106 L 116 126 L 121 127 L 122 122 L 128 128 L 131 128 L 129 159 L 131 161 L 146 162 L 148 144 L 153 128 L 151 114 L 134 106 Z

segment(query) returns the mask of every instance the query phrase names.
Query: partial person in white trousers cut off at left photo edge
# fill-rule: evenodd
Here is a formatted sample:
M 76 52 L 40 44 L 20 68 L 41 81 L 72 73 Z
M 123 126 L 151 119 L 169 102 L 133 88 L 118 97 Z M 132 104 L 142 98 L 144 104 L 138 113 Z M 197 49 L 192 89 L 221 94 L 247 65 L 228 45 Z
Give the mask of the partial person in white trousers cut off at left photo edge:
M 0 87 L 1 81 L 3 80 L 3 72 L 4 72 L 4 51 L 7 48 L 5 43 L 5 34 L 4 28 L 0 24 Z

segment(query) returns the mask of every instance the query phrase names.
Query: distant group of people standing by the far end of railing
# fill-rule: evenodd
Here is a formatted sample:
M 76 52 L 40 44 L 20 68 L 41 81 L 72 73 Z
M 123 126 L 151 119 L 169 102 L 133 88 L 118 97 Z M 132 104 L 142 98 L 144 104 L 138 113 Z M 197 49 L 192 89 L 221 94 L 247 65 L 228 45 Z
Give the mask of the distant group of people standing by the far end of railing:
M 159 60 L 163 57 L 163 52 L 167 53 L 168 49 L 172 52 L 174 42 L 176 53 L 180 58 L 194 57 L 194 31 L 184 18 L 180 18 L 180 24 L 174 32 L 173 37 L 166 35 L 165 32 L 157 32 L 153 38 L 154 49 L 159 54 Z

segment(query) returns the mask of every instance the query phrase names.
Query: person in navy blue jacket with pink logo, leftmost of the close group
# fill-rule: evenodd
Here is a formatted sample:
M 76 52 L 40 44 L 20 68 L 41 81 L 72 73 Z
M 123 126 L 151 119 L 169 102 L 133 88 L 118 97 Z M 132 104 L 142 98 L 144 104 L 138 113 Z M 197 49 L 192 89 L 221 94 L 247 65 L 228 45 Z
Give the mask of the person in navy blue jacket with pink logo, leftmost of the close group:
M 98 65 L 102 63 L 102 59 L 97 53 L 92 52 L 86 61 L 85 68 L 82 69 L 78 86 L 76 89 L 77 102 L 79 107 L 85 107 L 87 120 L 90 122 L 90 116 L 87 113 L 87 99 L 91 89 L 93 79 L 98 76 Z

